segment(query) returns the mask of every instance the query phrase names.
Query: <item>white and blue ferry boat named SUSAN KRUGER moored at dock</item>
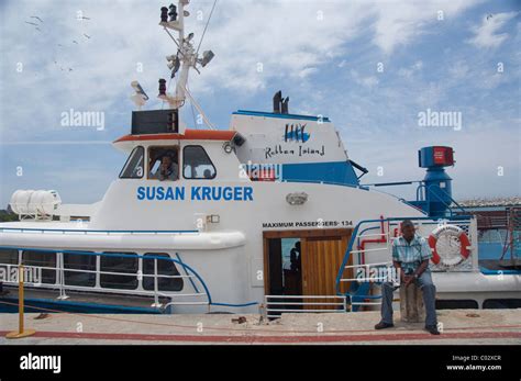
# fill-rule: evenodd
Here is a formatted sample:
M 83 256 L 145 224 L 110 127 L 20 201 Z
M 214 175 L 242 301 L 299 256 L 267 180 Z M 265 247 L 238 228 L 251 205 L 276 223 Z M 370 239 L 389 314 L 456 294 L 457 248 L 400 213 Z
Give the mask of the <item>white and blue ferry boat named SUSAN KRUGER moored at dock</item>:
M 480 267 L 476 218 L 453 200 L 445 171 L 451 147 L 419 149 L 423 180 L 363 184 L 367 169 L 348 157 L 332 121 L 290 113 L 280 91 L 271 111 L 239 110 L 215 130 L 187 89 L 190 70 L 213 58 L 185 34 L 188 2 L 160 10 L 177 45 L 167 57 L 175 92 L 159 80 L 168 108 L 142 110 L 148 97 L 132 82 L 137 110 L 113 142 L 128 159 L 103 198 L 78 205 L 56 190 L 13 193 L 20 221 L 0 224 L 11 291 L 1 311 L 16 310 L 20 265 L 27 311 L 276 317 L 378 309 L 403 218 L 429 238 L 439 309 L 521 306 L 519 224 L 510 259 Z M 187 101 L 206 128 L 179 119 Z M 415 200 L 379 191 L 404 183 L 417 186 Z

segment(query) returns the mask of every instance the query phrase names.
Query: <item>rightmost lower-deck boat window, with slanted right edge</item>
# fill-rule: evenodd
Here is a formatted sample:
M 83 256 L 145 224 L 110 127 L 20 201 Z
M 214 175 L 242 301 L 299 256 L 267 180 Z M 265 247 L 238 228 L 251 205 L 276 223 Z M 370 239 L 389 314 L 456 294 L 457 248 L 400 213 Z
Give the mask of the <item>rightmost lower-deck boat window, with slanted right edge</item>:
M 166 253 L 147 253 L 145 257 L 165 257 L 170 258 Z M 146 277 L 147 274 L 154 273 L 154 259 L 143 259 L 143 289 L 144 290 L 154 290 L 154 277 Z M 170 260 L 157 259 L 157 288 L 159 291 L 181 291 L 182 290 L 182 278 L 166 278 L 168 277 L 179 277 L 180 273 L 176 268 L 176 265 Z

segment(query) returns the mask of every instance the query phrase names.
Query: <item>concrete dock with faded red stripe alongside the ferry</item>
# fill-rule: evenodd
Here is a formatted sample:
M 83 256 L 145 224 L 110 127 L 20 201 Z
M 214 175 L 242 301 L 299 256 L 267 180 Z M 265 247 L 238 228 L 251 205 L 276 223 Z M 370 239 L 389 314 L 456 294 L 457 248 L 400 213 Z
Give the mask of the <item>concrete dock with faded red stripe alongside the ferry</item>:
M 18 329 L 18 314 L 1 314 L 0 344 L 521 344 L 521 309 L 439 311 L 440 336 L 423 330 L 422 323 L 401 323 L 398 313 L 395 318 L 393 328 L 375 330 L 378 312 L 284 314 L 270 322 L 257 314 L 30 313 L 25 314 L 25 327 L 36 334 L 7 339 L 8 332 Z

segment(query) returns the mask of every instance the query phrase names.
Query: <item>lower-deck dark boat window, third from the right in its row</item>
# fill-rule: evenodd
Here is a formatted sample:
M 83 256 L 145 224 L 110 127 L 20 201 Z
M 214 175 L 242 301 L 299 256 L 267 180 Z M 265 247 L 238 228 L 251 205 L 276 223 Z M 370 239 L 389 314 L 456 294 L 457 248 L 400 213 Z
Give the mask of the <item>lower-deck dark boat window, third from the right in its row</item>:
M 96 272 L 88 272 L 96 271 L 95 255 L 64 253 L 64 268 L 74 270 L 64 271 L 65 284 L 84 287 L 96 285 Z

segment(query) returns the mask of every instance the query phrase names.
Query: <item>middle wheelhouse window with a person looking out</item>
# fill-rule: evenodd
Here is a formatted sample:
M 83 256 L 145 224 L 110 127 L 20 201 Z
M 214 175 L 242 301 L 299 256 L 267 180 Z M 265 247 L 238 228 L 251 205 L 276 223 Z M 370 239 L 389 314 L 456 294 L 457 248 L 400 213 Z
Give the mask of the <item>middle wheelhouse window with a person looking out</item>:
M 177 146 L 148 148 L 148 179 L 159 181 L 179 179 L 179 149 Z

